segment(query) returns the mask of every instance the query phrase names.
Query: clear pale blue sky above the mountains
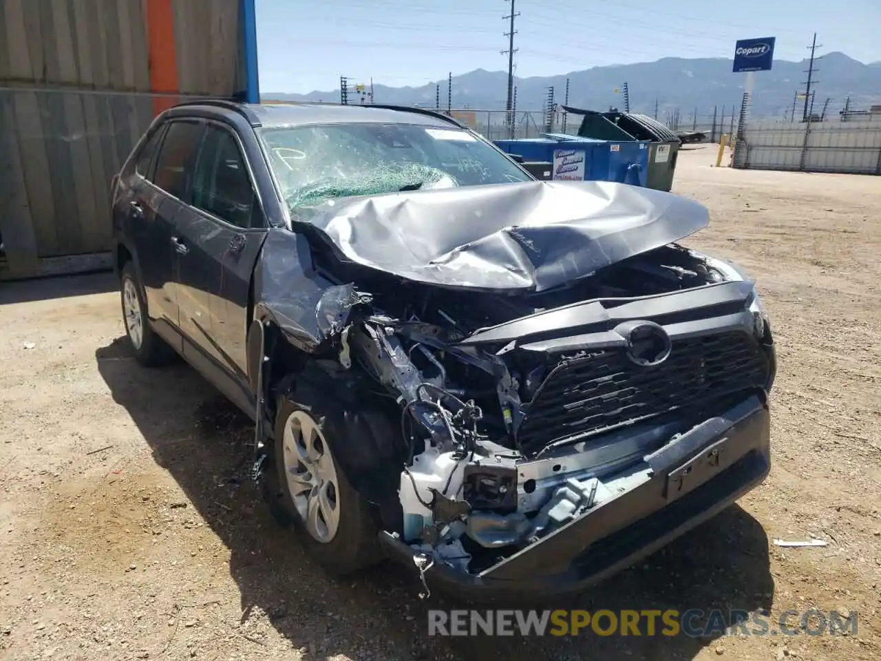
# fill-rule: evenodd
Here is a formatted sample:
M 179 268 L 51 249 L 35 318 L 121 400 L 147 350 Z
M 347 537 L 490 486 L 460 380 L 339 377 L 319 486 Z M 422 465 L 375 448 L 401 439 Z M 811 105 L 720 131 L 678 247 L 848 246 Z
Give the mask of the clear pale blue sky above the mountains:
M 425 85 L 507 71 L 505 0 L 256 0 L 263 93 L 352 83 Z M 665 56 L 731 57 L 734 41 L 777 38 L 774 57 L 823 48 L 881 60 L 881 0 L 515 0 L 516 75 L 547 76 Z

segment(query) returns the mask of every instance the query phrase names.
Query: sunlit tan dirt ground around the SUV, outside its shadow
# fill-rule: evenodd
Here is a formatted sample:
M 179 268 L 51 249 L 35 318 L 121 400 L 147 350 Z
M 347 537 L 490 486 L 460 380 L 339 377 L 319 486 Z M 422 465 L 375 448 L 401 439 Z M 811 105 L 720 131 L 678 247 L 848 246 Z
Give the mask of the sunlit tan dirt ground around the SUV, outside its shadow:
M 676 191 L 712 212 L 685 242 L 758 279 L 780 360 L 774 467 L 582 604 L 838 610 L 856 635 L 429 637 L 413 571 L 337 583 L 278 529 L 241 416 L 184 364 L 139 368 L 98 275 L 0 285 L 0 658 L 881 657 L 881 180 L 713 160 L 681 154 Z

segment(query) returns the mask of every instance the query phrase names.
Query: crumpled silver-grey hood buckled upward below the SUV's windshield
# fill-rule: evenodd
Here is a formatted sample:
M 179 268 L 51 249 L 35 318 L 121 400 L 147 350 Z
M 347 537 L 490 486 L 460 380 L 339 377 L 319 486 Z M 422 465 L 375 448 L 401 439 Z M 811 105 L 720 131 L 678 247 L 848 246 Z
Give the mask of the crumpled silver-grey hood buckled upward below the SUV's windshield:
M 344 261 L 437 286 L 541 291 L 707 227 L 689 199 L 612 182 L 518 182 L 296 209 Z

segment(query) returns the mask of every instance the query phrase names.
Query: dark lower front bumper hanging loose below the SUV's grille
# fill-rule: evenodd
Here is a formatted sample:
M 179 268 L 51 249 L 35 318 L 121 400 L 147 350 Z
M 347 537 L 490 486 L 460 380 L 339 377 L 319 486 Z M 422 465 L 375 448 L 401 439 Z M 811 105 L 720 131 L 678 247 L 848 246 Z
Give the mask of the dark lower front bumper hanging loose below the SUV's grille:
M 770 416 L 750 397 L 645 457 L 651 477 L 535 544 L 475 575 L 435 561 L 429 587 L 472 602 L 574 596 L 654 553 L 758 486 L 771 466 Z M 416 553 L 380 534 L 389 555 L 415 568 Z

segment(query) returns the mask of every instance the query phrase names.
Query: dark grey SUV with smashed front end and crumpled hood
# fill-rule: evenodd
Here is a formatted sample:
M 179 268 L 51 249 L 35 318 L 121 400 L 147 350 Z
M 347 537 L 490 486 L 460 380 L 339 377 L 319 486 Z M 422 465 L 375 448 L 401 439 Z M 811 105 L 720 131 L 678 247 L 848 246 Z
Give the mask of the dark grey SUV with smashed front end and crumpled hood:
M 753 283 L 682 197 L 539 182 L 449 117 L 194 101 L 113 194 L 132 350 L 255 421 L 253 474 L 337 574 L 583 590 L 769 469 Z

